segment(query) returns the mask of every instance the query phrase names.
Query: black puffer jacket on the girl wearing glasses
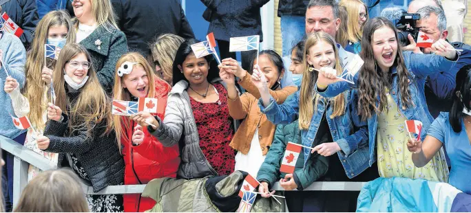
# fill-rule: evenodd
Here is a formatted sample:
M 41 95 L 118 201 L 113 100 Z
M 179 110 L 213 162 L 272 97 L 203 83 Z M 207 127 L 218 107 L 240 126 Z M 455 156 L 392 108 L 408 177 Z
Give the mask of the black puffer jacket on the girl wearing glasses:
M 79 98 L 80 92 L 68 89 L 67 97 L 72 104 Z M 125 164 L 119 153 L 114 131 L 103 135 L 106 124 L 96 124 L 90 137 L 87 137 L 84 129 L 70 132 L 69 118 L 65 114 L 63 116 L 62 122 L 49 120 L 44 131 L 44 135 L 50 139 L 47 151 L 59 153 L 58 166 L 67 165 L 66 155 L 73 153 L 90 177 L 94 192 L 103 190 L 107 186 L 123 184 Z

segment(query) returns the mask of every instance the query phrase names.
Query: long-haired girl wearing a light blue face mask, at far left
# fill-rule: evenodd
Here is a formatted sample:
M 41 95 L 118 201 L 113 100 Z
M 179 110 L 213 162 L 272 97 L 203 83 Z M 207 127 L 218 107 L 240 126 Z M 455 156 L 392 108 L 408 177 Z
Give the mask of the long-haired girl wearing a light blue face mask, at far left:
M 52 11 L 46 14 L 36 27 L 35 36 L 32 41 L 34 48 L 28 52 L 25 65 L 26 81 L 23 94 L 16 87 L 17 80 L 8 77 L 6 86 L 15 89 L 6 89 L 12 98 L 12 106 L 17 117 L 28 116 L 36 133 L 42 133 L 47 121 L 48 102 L 54 98 L 51 96 L 52 69 L 54 69 L 54 58 L 45 57 L 45 45 L 51 44 L 63 47 L 65 43 L 75 42 L 75 33 L 69 14 L 65 11 Z M 48 68 L 52 67 L 52 69 Z M 50 160 L 50 164 L 57 164 L 56 153 L 48 153 L 40 150 L 36 145 L 36 136 L 32 128 L 26 135 L 25 146 L 43 155 Z M 30 165 L 28 180 L 31 180 L 41 170 Z

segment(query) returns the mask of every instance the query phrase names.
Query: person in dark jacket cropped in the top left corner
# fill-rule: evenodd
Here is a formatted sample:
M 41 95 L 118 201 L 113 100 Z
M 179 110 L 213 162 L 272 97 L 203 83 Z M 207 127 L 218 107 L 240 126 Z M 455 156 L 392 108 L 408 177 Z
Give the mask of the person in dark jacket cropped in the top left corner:
M 34 30 L 39 22 L 36 0 L 0 0 L 0 14 L 6 12 L 23 34 L 19 37 L 25 49 L 30 49 Z

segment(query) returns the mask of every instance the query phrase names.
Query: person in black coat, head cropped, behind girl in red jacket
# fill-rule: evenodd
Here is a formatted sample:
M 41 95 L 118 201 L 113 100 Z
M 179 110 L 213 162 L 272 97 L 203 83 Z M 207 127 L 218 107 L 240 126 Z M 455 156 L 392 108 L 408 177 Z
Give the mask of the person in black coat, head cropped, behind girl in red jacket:
M 111 1 L 130 51 L 149 55 L 149 44 L 160 34 L 176 34 L 185 39 L 195 37 L 178 0 Z

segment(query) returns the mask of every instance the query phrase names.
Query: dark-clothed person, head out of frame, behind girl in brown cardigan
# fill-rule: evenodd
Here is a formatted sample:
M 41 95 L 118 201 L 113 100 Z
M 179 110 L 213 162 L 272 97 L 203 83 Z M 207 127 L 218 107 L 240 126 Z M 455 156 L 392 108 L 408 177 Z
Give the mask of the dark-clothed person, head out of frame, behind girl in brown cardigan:
M 208 33 L 213 32 L 218 41 L 221 60 L 235 58 L 229 52 L 229 38 L 260 35 L 262 42 L 262 18 L 260 8 L 270 0 L 201 0 L 207 6 L 203 18 L 209 21 Z M 241 52 L 242 68 L 252 71 L 250 62 L 254 51 Z

